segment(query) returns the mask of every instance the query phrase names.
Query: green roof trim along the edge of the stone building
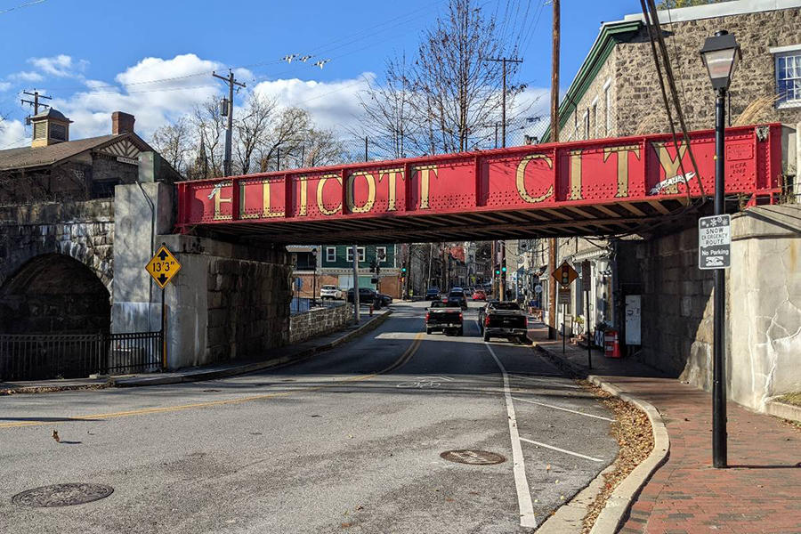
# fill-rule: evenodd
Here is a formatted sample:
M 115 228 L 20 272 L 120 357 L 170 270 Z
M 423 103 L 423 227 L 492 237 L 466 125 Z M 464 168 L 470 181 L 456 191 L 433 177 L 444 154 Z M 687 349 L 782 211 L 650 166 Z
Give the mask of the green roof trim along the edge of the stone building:
M 581 101 L 587 89 L 595 80 L 598 71 L 619 43 L 626 43 L 637 35 L 643 27 L 642 20 L 622 20 L 619 22 L 607 22 L 601 27 L 601 32 L 595 39 L 593 47 L 587 54 L 587 58 L 578 69 L 578 74 L 573 78 L 567 93 L 565 93 L 562 103 L 559 104 L 559 131 L 562 132 L 563 126 L 567 123 L 570 115 L 576 109 L 578 101 Z M 549 125 L 545 134 L 540 138 L 541 142 L 550 142 L 551 126 Z

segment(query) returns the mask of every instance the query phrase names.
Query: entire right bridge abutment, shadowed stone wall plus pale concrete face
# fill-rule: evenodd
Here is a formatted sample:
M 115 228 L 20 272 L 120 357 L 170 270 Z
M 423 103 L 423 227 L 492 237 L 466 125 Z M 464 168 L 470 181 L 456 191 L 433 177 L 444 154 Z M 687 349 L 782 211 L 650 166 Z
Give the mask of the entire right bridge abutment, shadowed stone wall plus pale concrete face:
M 621 243 L 621 287 L 643 295 L 635 358 L 710 390 L 711 271 L 698 268 L 698 231 Z M 634 351 L 636 347 L 632 347 Z M 801 206 L 759 206 L 732 218 L 726 271 L 729 396 L 752 409 L 801 391 Z

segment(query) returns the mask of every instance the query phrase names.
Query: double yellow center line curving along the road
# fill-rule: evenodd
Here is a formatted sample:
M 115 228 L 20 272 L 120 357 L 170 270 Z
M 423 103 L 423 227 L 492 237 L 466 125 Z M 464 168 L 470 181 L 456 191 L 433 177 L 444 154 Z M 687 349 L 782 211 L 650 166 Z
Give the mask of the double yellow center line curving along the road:
M 63 417 L 62 420 L 55 419 L 55 421 L 14 421 L 12 423 L 0 423 L 0 428 L 17 428 L 20 426 L 39 426 L 39 425 L 53 425 L 54 422 L 58 423 L 69 423 L 70 421 L 93 421 L 93 420 L 102 420 L 102 419 L 110 419 L 113 417 L 131 417 L 131 416 L 143 416 L 147 414 L 162 414 L 167 412 L 175 412 L 175 411 L 182 411 L 185 409 L 197 409 L 197 408 L 208 408 L 212 406 L 224 406 L 226 404 L 240 404 L 242 402 L 250 402 L 250 401 L 263 401 L 264 399 L 275 399 L 278 397 L 286 397 L 287 395 L 294 395 L 295 393 L 301 392 L 315 392 L 322 389 L 328 389 L 330 387 L 335 387 L 336 385 L 340 384 L 347 384 L 351 382 L 360 382 L 363 380 L 368 380 L 373 378 L 374 376 L 384 375 L 386 373 L 391 373 L 392 371 L 403 367 L 414 357 L 415 352 L 420 347 L 420 344 L 423 341 L 423 333 L 417 333 L 415 336 L 414 341 L 412 344 L 409 345 L 409 348 L 401 354 L 401 357 L 398 360 L 395 360 L 392 365 L 387 368 L 384 368 L 376 373 L 372 373 L 370 375 L 360 375 L 360 376 L 352 376 L 350 378 L 345 378 L 344 380 L 336 380 L 336 382 L 332 382 L 331 384 L 326 385 L 317 385 L 313 387 L 303 387 L 291 392 L 280 392 L 280 393 L 265 393 L 262 395 L 249 395 L 247 397 L 239 397 L 237 399 L 228 399 L 225 401 L 207 401 L 207 402 L 195 402 L 192 404 L 180 404 L 178 406 L 166 406 L 161 408 L 143 408 L 143 409 L 132 409 L 126 411 L 118 411 L 118 412 L 111 412 L 107 414 L 95 414 L 92 416 L 77 416 L 77 417 Z

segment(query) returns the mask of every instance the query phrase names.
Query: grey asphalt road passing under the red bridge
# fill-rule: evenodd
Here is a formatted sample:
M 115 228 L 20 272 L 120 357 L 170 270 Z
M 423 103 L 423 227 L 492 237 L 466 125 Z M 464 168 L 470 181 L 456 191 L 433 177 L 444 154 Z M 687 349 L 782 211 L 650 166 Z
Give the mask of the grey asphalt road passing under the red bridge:
M 533 531 L 616 456 L 611 413 L 530 347 L 484 344 L 473 303 L 464 337 L 426 336 L 424 306 L 269 372 L 0 397 L 0 532 Z M 506 461 L 440 456 L 461 449 Z M 64 482 L 114 492 L 12 503 Z

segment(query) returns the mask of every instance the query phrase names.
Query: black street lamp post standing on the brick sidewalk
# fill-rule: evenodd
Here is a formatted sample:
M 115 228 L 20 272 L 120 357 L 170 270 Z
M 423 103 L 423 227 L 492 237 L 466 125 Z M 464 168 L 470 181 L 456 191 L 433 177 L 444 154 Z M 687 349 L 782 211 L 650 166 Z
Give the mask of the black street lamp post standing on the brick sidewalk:
M 740 45 L 734 36 L 722 30 L 707 37 L 700 50 L 701 59 L 709 72 L 712 88 L 717 93 L 715 103 L 715 214 L 725 213 L 725 101 L 732 74 L 740 60 Z M 727 466 L 726 451 L 726 362 L 725 362 L 725 291 L 723 269 L 713 272 L 715 296 L 713 300 L 713 371 L 712 371 L 712 465 Z

